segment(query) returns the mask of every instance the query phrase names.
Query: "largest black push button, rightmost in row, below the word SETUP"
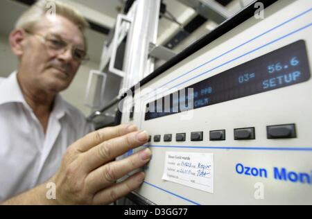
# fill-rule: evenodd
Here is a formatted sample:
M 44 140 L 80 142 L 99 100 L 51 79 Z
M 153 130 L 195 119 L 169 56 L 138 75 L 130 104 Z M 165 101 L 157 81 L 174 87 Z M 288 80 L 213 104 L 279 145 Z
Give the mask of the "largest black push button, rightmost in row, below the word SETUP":
M 268 139 L 293 139 L 297 137 L 295 124 L 272 125 L 266 128 Z

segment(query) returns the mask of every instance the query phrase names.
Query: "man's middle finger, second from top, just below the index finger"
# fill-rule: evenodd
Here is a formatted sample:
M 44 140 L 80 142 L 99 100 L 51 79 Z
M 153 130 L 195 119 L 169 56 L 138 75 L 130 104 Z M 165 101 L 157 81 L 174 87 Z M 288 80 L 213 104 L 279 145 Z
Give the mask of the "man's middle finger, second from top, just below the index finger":
M 115 139 L 105 141 L 85 152 L 82 156 L 85 171 L 90 172 L 99 166 L 103 166 L 116 157 L 123 155 L 132 148 L 137 148 L 148 141 L 148 134 L 143 132 L 131 132 Z

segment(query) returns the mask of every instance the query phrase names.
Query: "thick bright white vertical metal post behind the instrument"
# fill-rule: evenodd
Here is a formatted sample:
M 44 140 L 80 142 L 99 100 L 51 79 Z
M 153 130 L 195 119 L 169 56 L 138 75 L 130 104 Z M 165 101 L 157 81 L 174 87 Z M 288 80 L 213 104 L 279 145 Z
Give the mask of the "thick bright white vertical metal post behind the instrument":
M 135 19 L 125 55 L 128 60 L 125 62 L 123 88 L 132 87 L 153 71 L 148 46 L 150 42 L 157 41 L 160 0 L 138 0 L 136 3 Z

